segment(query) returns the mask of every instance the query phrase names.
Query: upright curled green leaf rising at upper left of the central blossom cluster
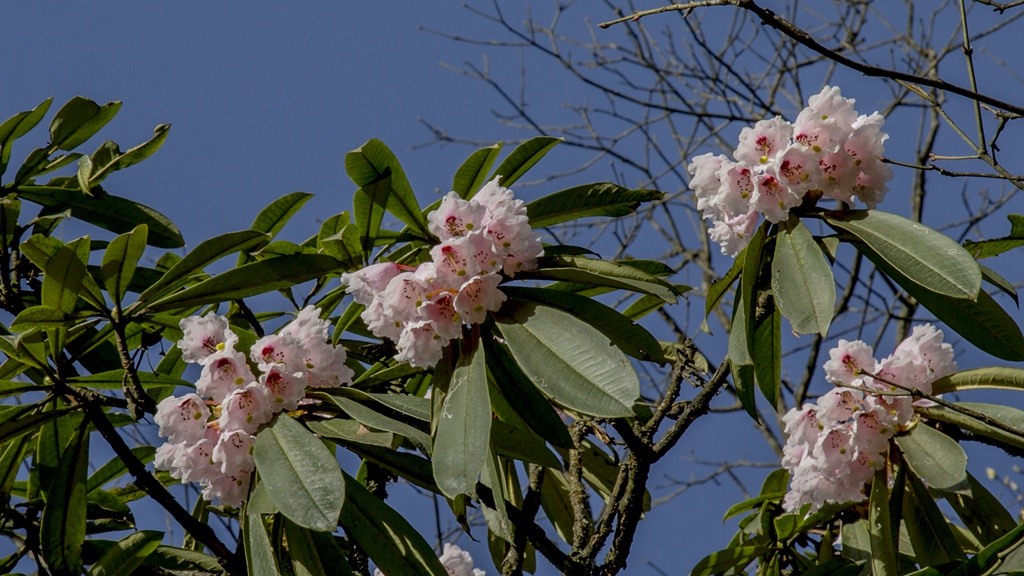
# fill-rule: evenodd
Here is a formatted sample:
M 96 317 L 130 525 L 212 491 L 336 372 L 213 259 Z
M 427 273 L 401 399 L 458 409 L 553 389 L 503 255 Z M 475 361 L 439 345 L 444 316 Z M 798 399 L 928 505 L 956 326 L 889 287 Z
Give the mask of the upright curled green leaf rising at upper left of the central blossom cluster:
M 427 229 L 427 219 L 416 201 L 413 188 L 409 184 L 406 171 L 401 169 L 384 142 L 373 138 L 361 147 L 345 155 L 345 171 L 357 187 L 382 180 L 390 172 L 390 192 L 387 194 L 387 209 L 407 225 L 416 229 L 425 238 L 433 235 Z M 356 215 L 358 221 L 358 215 Z

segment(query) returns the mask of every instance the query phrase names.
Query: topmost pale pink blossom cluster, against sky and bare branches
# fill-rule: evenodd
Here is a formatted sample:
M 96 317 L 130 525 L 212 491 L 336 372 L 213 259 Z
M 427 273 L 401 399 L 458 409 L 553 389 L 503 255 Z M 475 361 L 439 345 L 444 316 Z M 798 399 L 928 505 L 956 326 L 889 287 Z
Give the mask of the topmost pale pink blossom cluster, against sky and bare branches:
M 809 193 L 874 208 L 889 192 L 892 170 L 881 160 L 885 118 L 858 116 L 854 100 L 833 86 L 807 104 L 794 123 L 776 116 L 743 128 L 734 161 L 705 154 L 687 166 L 697 209 L 712 220 L 710 236 L 723 254 L 746 246 L 759 214 L 780 222 Z

